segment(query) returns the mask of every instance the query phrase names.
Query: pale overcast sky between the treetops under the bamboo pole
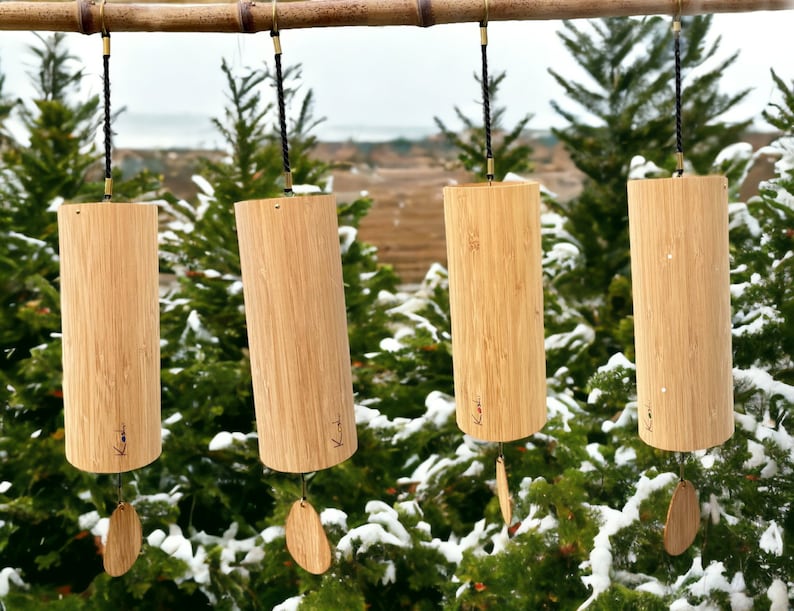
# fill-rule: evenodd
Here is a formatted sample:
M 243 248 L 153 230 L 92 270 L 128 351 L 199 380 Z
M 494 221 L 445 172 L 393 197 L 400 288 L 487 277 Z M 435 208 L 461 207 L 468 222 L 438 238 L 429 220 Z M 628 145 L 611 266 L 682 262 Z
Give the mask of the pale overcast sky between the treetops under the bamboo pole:
M 774 91 L 770 68 L 787 82 L 794 79 L 792 23 L 790 11 L 715 16 L 713 34 L 723 38 L 722 53 L 741 50 L 723 85 L 753 88 L 733 118 L 760 115 Z M 508 75 L 499 99 L 508 108 L 508 124 L 527 112 L 534 115 L 531 128 L 560 124 L 549 100 L 563 96 L 547 68 L 572 76 L 578 68 L 558 41 L 559 27 L 556 21 L 489 25 L 491 72 L 506 70 Z M 356 131 L 362 127 L 405 129 L 410 135 L 411 129 L 432 126 L 433 116 L 451 121 L 454 105 L 471 116 L 480 113 L 472 78 L 480 69 L 477 24 L 285 30 L 281 39 L 285 66 L 303 65 L 305 82 L 315 92 L 316 113 L 327 118 L 321 137 L 363 139 Z M 99 36 L 69 34 L 69 40 L 86 64 L 89 86 L 99 91 Z M 30 91 L 26 72 L 33 59 L 25 47 L 33 42 L 30 33 L 0 34 L 0 69 L 7 75 L 7 92 Z M 263 61 L 272 65 L 273 55 L 267 33 L 118 33 L 112 44 L 113 105 L 126 106 L 131 116 L 219 116 L 224 107 L 221 58 L 242 67 Z M 124 134 L 123 125 L 116 126 L 119 146 L 135 137 Z

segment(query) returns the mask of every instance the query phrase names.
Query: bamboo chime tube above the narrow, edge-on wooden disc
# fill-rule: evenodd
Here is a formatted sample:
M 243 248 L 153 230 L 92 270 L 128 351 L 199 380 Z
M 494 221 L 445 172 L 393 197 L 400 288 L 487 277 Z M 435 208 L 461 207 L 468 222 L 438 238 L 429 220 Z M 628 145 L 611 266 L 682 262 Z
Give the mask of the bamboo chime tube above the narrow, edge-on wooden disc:
M 540 188 L 444 188 L 458 426 L 511 441 L 546 422 Z

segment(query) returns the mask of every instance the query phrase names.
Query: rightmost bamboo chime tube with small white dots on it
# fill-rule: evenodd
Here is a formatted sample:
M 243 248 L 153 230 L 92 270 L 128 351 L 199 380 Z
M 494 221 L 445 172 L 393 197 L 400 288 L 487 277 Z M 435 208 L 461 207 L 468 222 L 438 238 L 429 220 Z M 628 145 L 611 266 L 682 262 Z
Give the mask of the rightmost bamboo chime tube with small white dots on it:
M 628 183 L 640 437 L 678 452 L 733 434 L 728 181 Z

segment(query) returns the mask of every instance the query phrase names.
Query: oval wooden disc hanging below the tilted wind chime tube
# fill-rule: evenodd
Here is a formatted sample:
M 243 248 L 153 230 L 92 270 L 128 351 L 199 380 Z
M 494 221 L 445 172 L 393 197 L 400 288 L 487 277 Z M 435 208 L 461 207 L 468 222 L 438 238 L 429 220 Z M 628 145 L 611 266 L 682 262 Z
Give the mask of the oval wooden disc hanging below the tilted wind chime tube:
M 320 516 L 307 500 L 295 501 L 287 516 L 287 550 L 298 565 L 315 575 L 331 566 L 331 546 Z

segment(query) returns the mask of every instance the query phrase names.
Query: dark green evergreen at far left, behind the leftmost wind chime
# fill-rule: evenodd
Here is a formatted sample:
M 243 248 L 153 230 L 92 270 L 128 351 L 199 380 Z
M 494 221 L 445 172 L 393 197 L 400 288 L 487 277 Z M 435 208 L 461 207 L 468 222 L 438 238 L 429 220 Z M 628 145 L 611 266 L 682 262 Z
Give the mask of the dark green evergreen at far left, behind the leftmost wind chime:
M 99 98 L 80 94 L 84 75 L 64 35 L 31 50 L 36 98 L 15 105 L 24 135 L 5 141 L 0 168 L 0 550 L 3 583 L 27 584 L 9 595 L 12 608 L 89 586 L 102 563 L 80 516 L 108 515 L 115 494 L 109 478 L 71 467 L 63 448 L 55 212 L 102 197 Z M 118 199 L 157 186 L 148 174 L 117 178 Z

